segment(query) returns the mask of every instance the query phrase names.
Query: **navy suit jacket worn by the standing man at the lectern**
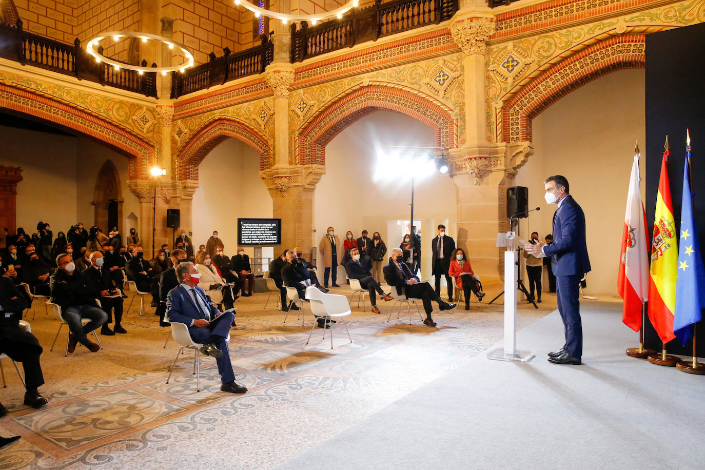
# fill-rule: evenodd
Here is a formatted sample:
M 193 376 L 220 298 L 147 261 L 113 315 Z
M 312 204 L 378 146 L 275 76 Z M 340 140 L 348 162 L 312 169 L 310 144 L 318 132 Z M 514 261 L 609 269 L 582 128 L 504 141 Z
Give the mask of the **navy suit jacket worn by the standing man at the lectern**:
M 582 275 L 590 271 L 585 241 L 585 214 L 575 199 L 565 197 L 553 216 L 553 244 L 544 247 L 551 256 L 555 276 Z

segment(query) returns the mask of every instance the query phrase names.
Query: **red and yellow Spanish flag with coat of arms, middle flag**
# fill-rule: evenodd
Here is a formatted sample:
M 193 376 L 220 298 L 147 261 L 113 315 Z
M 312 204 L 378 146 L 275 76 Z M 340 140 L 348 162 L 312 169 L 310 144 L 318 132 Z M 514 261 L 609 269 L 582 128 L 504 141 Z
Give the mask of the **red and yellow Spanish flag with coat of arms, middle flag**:
M 675 338 L 673 312 L 675 311 L 675 283 L 678 276 L 678 237 L 673 220 L 668 183 L 668 149 L 663 152 L 661 178 L 656 196 L 654 237 L 651 240 L 651 268 L 649 269 L 649 320 L 665 345 Z

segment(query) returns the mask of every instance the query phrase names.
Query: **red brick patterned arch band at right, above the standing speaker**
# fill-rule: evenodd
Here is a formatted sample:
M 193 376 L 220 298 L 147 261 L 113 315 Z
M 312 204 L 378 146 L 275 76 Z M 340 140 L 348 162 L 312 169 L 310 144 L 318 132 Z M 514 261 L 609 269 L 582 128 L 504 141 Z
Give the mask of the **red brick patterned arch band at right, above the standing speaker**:
M 532 120 L 566 94 L 624 68 L 644 68 L 646 36 L 628 34 L 603 39 L 564 58 L 521 87 L 502 108 L 503 142 L 532 140 Z

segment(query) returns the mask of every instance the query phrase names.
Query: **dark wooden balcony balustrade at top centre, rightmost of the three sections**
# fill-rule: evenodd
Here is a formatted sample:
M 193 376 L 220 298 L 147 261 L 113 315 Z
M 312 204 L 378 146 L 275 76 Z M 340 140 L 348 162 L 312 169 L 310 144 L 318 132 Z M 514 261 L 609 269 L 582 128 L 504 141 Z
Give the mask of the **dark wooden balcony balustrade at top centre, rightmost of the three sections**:
M 353 47 L 364 41 L 438 24 L 450 20 L 458 11 L 458 0 L 393 0 L 360 11 L 351 10 L 340 20 L 330 20 L 301 29 L 291 25 L 291 61 L 300 62 L 326 52 Z

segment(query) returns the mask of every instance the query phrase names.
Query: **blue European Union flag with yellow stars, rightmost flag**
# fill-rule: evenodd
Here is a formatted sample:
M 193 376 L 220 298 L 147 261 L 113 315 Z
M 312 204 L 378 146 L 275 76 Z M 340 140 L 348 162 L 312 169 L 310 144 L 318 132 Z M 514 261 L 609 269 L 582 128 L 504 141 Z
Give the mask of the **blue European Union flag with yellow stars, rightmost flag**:
M 693 323 L 702 319 L 705 307 L 705 267 L 700 256 L 698 230 L 693 220 L 690 191 L 690 142 L 688 142 L 685 171 L 683 172 L 683 202 L 680 210 L 680 250 L 678 278 L 675 283 L 675 312 L 673 333 L 685 346 L 693 335 Z

